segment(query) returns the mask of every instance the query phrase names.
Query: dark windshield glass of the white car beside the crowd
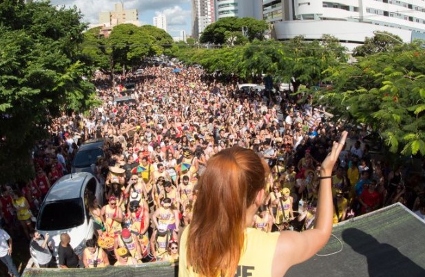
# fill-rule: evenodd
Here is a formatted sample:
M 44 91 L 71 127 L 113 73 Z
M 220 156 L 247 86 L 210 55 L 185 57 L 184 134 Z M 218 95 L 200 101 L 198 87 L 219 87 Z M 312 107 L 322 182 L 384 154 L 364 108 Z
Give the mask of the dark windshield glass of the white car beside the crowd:
M 81 198 L 45 203 L 37 218 L 37 230 L 65 230 L 84 223 Z

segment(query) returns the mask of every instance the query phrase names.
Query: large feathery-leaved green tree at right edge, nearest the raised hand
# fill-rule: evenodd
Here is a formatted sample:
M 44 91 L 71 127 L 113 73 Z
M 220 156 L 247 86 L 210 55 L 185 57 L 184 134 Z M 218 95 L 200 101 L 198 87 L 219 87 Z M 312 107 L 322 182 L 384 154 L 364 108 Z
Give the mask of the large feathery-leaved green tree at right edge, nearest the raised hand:
M 425 51 L 398 45 L 329 69 L 332 91 L 318 96 L 346 120 L 381 131 L 393 153 L 425 155 Z

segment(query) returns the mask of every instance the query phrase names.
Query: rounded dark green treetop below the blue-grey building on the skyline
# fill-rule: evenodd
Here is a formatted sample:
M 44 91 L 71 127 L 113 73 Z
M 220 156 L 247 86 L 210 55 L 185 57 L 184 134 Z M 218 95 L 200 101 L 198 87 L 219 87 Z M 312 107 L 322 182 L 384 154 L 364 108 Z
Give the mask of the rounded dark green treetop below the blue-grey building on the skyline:
M 246 34 L 242 34 L 242 29 Z M 229 34 L 235 33 L 240 34 L 240 36 L 246 35 L 247 41 L 250 42 L 254 39 L 264 40 L 265 31 L 268 29 L 269 24 L 266 21 L 256 20 L 251 17 L 244 17 L 242 19 L 225 17 L 208 25 L 200 36 L 199 41 L 200 43 L 222 45 L 227 43 Z

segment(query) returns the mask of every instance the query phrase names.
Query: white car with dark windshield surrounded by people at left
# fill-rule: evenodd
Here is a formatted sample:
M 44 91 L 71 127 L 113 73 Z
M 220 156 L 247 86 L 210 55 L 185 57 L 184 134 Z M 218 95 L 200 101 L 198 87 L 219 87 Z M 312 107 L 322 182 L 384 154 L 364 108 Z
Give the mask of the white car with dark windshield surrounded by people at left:
M 62 233 L 71 237 L 70 245 L 76 254 L 82 254 L 85 241 L 94 234 L 93 219 L 87 209 L 87 194 L 103 203 L 103 187 L 91 173 L 65 175 L 50 188 L 41 204 L 36 229 L 43 236 L 49 233 L 53 254 L 58 255 Z

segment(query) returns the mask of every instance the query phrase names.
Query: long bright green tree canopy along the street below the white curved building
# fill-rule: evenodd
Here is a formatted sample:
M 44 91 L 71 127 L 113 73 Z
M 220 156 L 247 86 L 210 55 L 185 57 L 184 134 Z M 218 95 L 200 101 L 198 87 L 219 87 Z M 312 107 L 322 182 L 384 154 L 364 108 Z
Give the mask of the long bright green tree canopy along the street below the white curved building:
M 346 61 L 345 48 L 336 38 L 307 42 L 302 36 L 288 42 L 254 40 L 240 47 L 222 49 L 183 48 L 180 60 L 199 63 L 209 72 L 236 74 L 241 78 L 270 75 L 276 80 L 314 86 L 327 77 L 326 69 Z

